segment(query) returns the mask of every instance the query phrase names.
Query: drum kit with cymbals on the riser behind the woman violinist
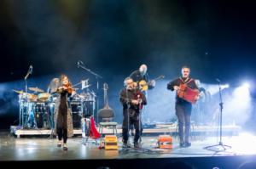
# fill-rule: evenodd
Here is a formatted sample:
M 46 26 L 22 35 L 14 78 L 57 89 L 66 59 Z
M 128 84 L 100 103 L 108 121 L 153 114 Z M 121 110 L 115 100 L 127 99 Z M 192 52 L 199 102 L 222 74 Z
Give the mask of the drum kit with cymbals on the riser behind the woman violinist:
M 53 129 L 55 93 L 45 93 L 38 87 L 28 87 L 31 93 L 22 90 L 13 90 L 19 93 L 20 104 L 20 126 L 26 129 Z M 73 112 L 73 127 L 81 128 L 82 117 L 94 115 L 96 94 L 86 88 L 86 93 L 76 93 L 70 99 L 70 105 Z

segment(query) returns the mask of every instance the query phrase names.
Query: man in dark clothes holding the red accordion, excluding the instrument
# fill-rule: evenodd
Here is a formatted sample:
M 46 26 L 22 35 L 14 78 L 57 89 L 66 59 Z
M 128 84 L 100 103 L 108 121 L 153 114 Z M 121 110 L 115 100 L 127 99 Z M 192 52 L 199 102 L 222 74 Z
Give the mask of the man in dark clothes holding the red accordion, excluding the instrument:
M 180 138 L 180 147 L 189 147 L 191 143 L 189 142 L 189 132 L 190 132 L 190 118 L 191 118 L 191 110 L 192 104 L 184 99 L 178 97 L 178 93 L 180 92 L 180 85 L 186 84 L 188 87 L 192 89 L 198 89 L 195 84 L 195 80 L 189 77 L 190 68 L 188 66 L 182 67 L 182 77 L 178 77 L 174 79 L 172 82 L 167 84 L 167 89 L 176 91 L 176 102 L 175 102 L 175 110 L 178 120 L 178 134 Z M 196 96 L 195 99 L 198 99 Z M 185 127 L 185 130 L 183 129 Z

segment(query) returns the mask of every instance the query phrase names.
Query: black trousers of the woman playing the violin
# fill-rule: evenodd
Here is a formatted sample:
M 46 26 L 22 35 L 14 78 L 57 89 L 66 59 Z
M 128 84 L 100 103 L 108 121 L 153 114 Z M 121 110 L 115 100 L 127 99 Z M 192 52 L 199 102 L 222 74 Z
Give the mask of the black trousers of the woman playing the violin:
M 61 141 L 63 138 L 63 143 L 67 144 L 67 108 L 60 107 L 59 114 L 57 117 L 57 134 L 58 139 Z

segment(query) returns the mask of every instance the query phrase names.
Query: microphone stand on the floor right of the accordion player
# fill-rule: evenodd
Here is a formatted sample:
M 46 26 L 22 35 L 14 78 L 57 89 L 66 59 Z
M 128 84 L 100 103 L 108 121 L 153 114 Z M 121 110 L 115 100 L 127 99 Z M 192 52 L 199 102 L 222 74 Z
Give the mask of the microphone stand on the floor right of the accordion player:
M 215 145 L 210 145 L 205 147 L 204 149 L 210 150 L 210 151 L 215 151 L 215 152 L 220 152 L 220 151 L 225 151 L 226 149 L 231 149 L 230 145 L 225 145 L 222 142 L 222 112 L 223 112 L 223 102 L 222 102 L 222 94 L 221 94 L 221 87 L 220 87 L 220 81 L 217 79 L 218 82 L 218 93 L 219 93 L 219 142 L 218 144 Z M 218 147 L 220 147 L 218 149 Z

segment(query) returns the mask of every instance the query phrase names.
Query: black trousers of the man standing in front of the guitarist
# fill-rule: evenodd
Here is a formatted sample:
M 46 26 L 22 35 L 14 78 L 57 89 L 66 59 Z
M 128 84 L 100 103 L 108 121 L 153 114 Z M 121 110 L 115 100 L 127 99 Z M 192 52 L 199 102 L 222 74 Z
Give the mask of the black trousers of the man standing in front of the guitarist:
M 138 139 L 141 136 L 141 130 L 142 130 L 142 124 L 140 122 L 139 116 L 133 116 L 131 117 L 128 114 L 127 110 L 124 110 L 123 112 L 123 141 L 127 142 L 129 139 L 129 130 L 131 129 L 131 126 L 135 128 L 135 136 L 134 136 L 134 142 L 137 143 Z

